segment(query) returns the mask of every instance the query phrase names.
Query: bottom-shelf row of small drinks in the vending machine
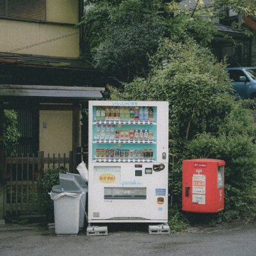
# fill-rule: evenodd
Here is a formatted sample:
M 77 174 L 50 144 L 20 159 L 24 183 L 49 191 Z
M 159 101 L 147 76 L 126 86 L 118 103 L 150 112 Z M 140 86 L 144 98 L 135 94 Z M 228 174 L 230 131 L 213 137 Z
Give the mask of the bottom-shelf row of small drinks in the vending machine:
M 127 159 L 153 159 L 153 149 L 145 148 L 144 150 L 119 149 L 119 148 L 97 148 L 97 158 L 127 158 Z

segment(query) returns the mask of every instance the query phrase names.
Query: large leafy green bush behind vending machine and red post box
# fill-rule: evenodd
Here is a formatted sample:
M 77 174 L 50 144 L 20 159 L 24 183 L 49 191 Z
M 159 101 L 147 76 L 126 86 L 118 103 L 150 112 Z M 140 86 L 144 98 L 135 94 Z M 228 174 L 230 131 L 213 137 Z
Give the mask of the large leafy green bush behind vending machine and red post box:
M 171 60 L 164 69 L 158 62 L 162 54 Z M 109 90 L 113 100 L 169 102 L 171 212 L 173 207 L 180 209 L 182 160 L 203 157 L 226 161 L 225 210 L 250 212 L 255 200 L 256 148 L 252 139 L 256 125 L 248 109 L 250 101 L 236 101 L 232 96 L 225 63 L 218 63 L 194 40 L 182 43 L 174 38 L 161 42 L 150 67 L 148 79 L 136 78 L 124 83 L 124 88 Z M 170 218 L 175 220 L 182 220 L 177 211 Z

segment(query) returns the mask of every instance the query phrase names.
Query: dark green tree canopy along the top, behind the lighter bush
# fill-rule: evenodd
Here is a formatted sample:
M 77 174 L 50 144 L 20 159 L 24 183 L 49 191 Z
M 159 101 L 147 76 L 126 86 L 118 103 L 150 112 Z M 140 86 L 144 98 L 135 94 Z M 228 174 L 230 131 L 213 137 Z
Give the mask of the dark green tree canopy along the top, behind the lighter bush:
M 196 0 L 193 8 L 179 0 L 88 0 L 93 4 L 80 25 L 84 36 L 81 58 L 120 81 L 147 77 L 149 56 L 156 52 L 161 38 L 175 35 L 180 41 L 193 37 L 209 45 L 218 31 L 212 20 L 221 17 L 225 4 L 243 15 L 256 15 L 255 1 Z

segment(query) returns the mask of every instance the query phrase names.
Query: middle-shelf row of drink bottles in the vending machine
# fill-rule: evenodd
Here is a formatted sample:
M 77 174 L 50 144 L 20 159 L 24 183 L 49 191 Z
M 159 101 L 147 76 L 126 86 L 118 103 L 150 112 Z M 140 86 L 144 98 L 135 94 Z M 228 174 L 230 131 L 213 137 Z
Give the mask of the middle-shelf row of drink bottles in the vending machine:
M 95 140 L 154 140 L 153 131 L 147 129 L 116 130 L 115 125 L 97 124 Z

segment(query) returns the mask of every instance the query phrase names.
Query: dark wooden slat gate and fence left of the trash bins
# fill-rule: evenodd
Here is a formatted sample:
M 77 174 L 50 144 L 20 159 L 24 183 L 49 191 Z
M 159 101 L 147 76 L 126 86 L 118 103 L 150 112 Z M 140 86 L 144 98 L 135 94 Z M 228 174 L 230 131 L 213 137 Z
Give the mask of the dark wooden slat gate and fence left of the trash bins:
M 4 157 L 4 216 L 42 214 L 42 193 L 38 178 L 49 167 L 69 169 L 72 166 L 72 152 L 66 157 L 44 152 L 32 156 Z

